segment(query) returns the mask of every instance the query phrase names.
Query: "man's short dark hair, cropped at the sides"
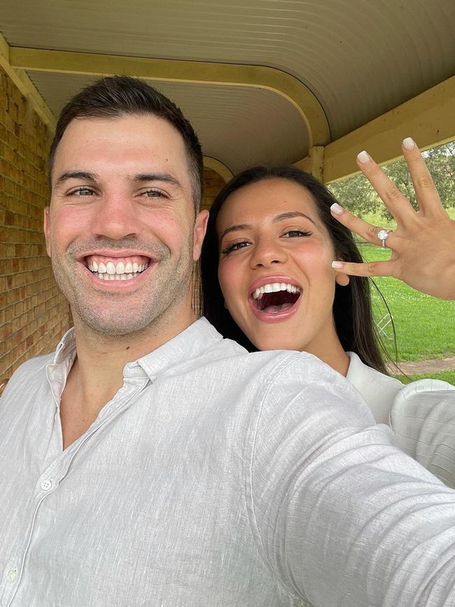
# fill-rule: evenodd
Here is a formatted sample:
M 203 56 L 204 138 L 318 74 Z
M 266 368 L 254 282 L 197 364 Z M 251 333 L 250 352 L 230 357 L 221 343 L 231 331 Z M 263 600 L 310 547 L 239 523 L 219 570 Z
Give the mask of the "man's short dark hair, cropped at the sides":
M 151 114 L 166 120 L 183 138 L 188 156 L 191 187 L 196 211 L 202 197 L 204 165 L 202 150 L 195 130 L 170 99 L 139 78 L 112 76 L 101 78 L 83 88 L 62 109 L 49 151 L 49 178 L 57 146 L 71 120 L 75 118 L 114 118 L 125 115 Z

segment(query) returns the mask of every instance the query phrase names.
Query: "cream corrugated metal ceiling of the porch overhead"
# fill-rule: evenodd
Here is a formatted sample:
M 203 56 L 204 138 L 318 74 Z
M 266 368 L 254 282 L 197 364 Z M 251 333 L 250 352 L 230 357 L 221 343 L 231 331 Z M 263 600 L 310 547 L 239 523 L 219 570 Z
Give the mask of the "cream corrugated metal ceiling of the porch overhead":
M 0 31 L 10 46 L 281 69 L 316 95 L 332 139 L 455 74 L 454 0 L 3 0 Z M 31 76 L 56 107 L 58 81 Z M 272 125 L 276 150 L 298 160 L 307 134 L 304 125 L 295 128 L 291 104 L 266 91 L 216 89 L 180 85 L 174 95 L 195 116 L 207 154 L 232 169 L 260 158 L 267 148 L 260 131 Z M 239 112 L 252 109 L 260 110 L 250 128 L 235 129 L 236 144 L 223 120 L 248 125 Z M 289 132 L 300 141 L 291 144 Z M 244 159 L 233 160 L 247 148 Z

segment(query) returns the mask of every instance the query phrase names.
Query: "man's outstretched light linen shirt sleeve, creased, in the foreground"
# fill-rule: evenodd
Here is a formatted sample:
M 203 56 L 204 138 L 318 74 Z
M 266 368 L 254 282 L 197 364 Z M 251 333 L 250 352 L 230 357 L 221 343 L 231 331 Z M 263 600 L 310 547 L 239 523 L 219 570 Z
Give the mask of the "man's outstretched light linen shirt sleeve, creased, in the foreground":
M 314 359 L 290 363 L 263 400 L 251 517 L 277 578 L 315 606 L 455 604 L 454 491 Z

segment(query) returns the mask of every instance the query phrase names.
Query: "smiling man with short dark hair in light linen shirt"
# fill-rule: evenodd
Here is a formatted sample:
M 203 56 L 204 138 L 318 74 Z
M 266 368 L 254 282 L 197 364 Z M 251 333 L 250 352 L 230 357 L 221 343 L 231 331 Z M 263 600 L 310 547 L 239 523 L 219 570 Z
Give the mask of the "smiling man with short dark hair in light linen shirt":
M 449 604 L 454 494 L 315 358 L 195 320 L 201 179 L 141 81 L 59 118 L 44 228 L 74 330 L 1 400 L 1 605 Z

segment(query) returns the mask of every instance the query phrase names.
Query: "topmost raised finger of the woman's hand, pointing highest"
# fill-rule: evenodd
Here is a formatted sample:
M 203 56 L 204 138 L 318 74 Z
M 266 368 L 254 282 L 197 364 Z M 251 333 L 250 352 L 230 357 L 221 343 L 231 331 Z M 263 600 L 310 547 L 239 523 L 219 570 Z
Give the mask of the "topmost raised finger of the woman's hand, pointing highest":
M 417 204 L 423 215 L 435 215 L 442 211 L 439 194 L 435 182 L 428 171 L 425 160 L 414 139 L 407 137 L 402 142 L 402 152 L 406 160 L 416 193 Z

